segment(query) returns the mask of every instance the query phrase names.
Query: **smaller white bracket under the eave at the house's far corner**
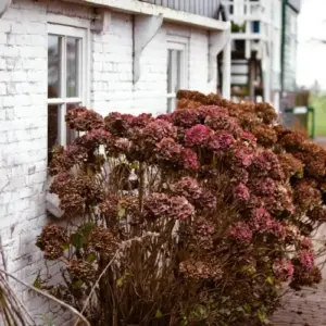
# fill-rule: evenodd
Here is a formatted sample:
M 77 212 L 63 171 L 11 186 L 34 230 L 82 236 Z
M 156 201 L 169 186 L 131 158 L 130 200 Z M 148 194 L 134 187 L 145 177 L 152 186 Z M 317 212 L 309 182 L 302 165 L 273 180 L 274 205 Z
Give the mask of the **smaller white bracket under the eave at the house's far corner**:
M 230 40 L 230 29 L 210 32 L 209 49 L 209 83 L 214 80 L 216 70 L 214 68 L 217 54 L 225 48 Z

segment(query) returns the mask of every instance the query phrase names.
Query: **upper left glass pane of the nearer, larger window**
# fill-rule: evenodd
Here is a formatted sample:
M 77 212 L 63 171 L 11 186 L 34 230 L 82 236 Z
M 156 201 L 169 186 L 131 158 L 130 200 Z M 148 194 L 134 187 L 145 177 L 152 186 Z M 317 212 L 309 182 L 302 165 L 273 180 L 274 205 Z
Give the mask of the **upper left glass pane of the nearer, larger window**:
M 48 37 L 48 97 L 59 98 L 62 37 Z

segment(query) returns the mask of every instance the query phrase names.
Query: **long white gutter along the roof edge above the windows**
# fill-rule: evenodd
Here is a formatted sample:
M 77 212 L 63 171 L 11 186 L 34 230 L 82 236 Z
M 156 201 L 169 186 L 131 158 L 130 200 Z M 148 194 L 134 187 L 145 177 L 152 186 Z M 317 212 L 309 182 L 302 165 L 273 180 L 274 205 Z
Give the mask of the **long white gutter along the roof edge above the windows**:
M 1 1 L 1 0 L 0 0 Z M 164 21 L 186 24 L 206 30 L 227 30 L 230 28 L 229 22 L 217 21 L 166 7 L 141 2 L 138 0 L 64 0 L 84 5 L 110 9 L 117 12 L 124 12 L 135 15 L 159 16 Z

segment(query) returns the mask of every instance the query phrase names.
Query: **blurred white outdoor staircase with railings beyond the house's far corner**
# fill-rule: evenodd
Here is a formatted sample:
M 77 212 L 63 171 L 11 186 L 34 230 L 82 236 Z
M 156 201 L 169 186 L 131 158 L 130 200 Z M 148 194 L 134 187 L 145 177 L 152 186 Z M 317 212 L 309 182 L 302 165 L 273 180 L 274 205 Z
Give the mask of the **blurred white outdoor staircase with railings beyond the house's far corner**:
M 224 0 L 222 2 L 231 21 L 234 100 L 272 102 L 274 70 L 277 66 L 274 57 L 280 58 L 281 1 Z M 276 35 L 279 35 L 279 46 L 275 42 Z

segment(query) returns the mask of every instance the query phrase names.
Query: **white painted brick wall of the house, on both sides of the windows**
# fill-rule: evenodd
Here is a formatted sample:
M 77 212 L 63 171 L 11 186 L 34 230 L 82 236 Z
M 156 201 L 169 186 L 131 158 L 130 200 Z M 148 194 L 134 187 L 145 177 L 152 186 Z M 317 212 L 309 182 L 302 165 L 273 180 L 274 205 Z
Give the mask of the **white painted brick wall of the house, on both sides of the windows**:
M 48 222 L 47 22 L 53 16 L 90 24 L 93 10 L 60 1 L 16 0 L 0 18 L 0 236 L 8 271 L 27 283 L 42 266 L 35 239 Z M 143 51 L 140 80 L 134 85 L 133 17 L 112 13 L 109 29 L 91 34 L 90 108 L 102 114 L 165 112 L 171 35 L 188 41 L 188 87 L 214 91 L 216 80 L 208 84 L 208 33 L 167 23 Z M 26 289 L 22 297 L 33 315 L 49 309 Z

